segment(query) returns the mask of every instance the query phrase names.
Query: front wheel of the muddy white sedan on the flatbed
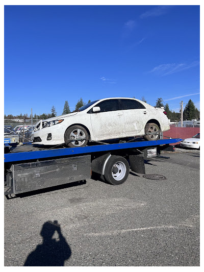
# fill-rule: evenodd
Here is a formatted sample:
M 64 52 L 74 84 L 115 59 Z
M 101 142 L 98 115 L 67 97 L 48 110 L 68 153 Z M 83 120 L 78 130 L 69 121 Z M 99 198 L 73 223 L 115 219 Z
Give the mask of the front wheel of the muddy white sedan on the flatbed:
M 74 140 L 74 137 L 77 138 L 78 131 L 79 136 L 84 138 L 83 140 Z M 68 128 L 64 134 L 64 142 L 67 147 L 84 147 L 88 140 L 89 134 L 82 126 L 72 126 Z

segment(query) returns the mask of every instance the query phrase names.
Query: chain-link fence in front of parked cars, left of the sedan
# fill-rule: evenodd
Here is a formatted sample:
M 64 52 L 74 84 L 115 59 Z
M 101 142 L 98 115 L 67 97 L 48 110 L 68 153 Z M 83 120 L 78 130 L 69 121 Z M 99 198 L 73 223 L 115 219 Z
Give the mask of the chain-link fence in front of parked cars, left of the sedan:
M 33 128 L 38 121 L 33 119 Z M 4 119 L 4 137 L 6 139 L 15 138 L 15 142 L 29 142 L 31 141 L 31 134 L 31 119 Z

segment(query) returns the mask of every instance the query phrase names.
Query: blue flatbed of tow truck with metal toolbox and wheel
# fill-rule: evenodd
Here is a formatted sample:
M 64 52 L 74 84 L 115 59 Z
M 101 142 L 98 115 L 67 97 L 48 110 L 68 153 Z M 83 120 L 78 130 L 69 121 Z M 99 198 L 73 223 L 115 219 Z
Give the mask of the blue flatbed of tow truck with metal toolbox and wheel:
M 182 139 L 159 139 L 4 154 L 5 195 L 18 194 L 91 178 L 122 184 L 129 170 L 145 174 L 144 158 L 160 156 Z M 33 145 L 31 145 L 32 147 Z M 153 155 L 152 155 L 153 153 Z

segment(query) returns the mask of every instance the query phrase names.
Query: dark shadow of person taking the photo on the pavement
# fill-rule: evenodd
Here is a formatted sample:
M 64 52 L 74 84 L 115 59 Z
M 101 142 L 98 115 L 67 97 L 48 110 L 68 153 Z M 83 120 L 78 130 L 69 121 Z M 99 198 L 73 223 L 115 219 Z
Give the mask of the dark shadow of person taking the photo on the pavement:
M 53 239 L 54 233 L 59 235 Z M 71 249 L 62 235 L 58 221 L 47 221 L 42 226 L 40 235 L 43 238 L 42 244 L 29 254 L 24 266 L 64 266 L 65 260 L 71 256 Z

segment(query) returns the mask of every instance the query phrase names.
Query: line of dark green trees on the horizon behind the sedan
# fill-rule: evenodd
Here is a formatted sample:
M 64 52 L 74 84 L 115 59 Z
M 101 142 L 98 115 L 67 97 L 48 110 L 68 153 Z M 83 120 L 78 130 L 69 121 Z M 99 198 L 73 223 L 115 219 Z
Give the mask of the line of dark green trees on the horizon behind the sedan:
M 135 98 L 135 97 L 133 97 Z M 142 96 L 141 101 L 147 103 L 147 101 L 145 100 L 144 96 Z M 91 100 L 89 100 L 87 103 L 90 103 Z M 75 105 L 75 110 L 78 110 L 79 108 L 83 107 L 84 105 L 86 105 L 86 103 L 83 101 L 82 97 L 78 100 L 77 104 Z M 167 113 L 167 117 L 168 119 L 170 119 L 171 121 L 179 121 L 181 119 L 181 112 L 175 112 L 169 109 L 169 105 L 164 104 L 164 101 L 162 99 L 162 97 L 157 98 L 156 101 L 156 105 L 155 107 L 157 108 L 161 108 L 164 107 L 164 110 Z M 70 113 L 70 108 L 69 108 L 69 104 L 68 101 L 65 101 L 64 104 L 64 109 L 62 112 L 62 115 L 64 114 L 68 114 Z M 51 112 L 50 113 L 43 113 L 41 115 L 36 115 L 36 113 L 33 115 L 33 119 L 47 119 L 47 118 L 51 118 L 51 117 L 55 117 L 57 116 L 57 112 L 56 112 L 56 108 L 54 106 L 52 106 L 51 108 Z M 191 119 L 199 119 L 200 118 L 200 111 L 195 107 L 193 101 L 190 99 L 189 102 L 186 104 L 186 107 L 183 111 L 183 120 L 191 120 Z M 9 115 L 4 115 L 4 119 L 31 119 L 31 115 L 23 114 L 22 113 L 20 115 L 16 115 L 13 116 L 12 114 Z

